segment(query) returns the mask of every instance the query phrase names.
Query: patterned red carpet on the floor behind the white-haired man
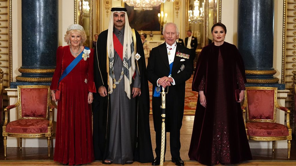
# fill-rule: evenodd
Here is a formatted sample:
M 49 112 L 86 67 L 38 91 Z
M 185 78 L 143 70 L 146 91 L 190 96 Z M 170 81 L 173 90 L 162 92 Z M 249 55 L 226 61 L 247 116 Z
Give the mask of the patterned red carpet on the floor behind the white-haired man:
M 198 92 L 192 91 L 193 75 L 186 81 L 184 115 L 194 115 Z M 150 115 L 152 115 L 152 84 L 149 82 Z

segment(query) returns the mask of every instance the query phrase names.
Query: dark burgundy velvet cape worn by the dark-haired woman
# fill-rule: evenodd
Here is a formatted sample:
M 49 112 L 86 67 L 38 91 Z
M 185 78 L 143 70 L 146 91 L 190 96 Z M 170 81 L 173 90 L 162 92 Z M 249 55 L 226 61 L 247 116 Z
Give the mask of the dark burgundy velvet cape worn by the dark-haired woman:
M 198 97 L 188 153 L 190 160 L 197 160 L 205 165 L 212 165 L 213 123 L 215 117 L 216 88 L 218 87 L 217 72 L 219 48 L 224 66 L 226 94 L 225 96 L 221 94 L 221 97 L 225 97 L 227 101 L 226 112 L 229 131 L 230 161 L 231 164 L 235 164 L 244 160 L 252 160 L 250 146 L 244 128 L 241 106 L 240 103 L 236 102 L 234 94 L 235 89 L 239 89 L 236 79 L 236 64 L 244 78 L 244 82 L 246 82 L 244 62 L 235 45 L 224 42 L 221 46 L 217 47 L 214 43 L 211 43 L 202 49 L 194 72 L 192 90 L 198 92 L 198 87 L 202 77 L 204 77 L 204 93 L 207 106 L 204 108 L 200 105 L 200 97 Z

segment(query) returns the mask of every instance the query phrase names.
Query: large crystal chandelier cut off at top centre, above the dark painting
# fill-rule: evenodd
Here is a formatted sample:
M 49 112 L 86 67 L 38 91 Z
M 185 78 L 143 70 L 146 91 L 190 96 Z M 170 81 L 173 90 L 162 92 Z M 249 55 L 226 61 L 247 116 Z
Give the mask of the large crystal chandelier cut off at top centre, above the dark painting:
M 153 7 L 159 6 L 165 1 L 174 0 L 123 0 L 128 6 L 133 6 L 135 10 L 152 10 Z

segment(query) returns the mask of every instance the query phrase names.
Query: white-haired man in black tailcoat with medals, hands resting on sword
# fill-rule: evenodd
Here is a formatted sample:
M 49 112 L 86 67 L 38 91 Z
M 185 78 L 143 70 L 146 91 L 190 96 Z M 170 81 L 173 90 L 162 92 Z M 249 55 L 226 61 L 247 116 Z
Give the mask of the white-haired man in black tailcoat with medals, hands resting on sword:
M 184 165 L 180 157 L 180 129 L 184 113 L 185 82 L 191 77 L 194 55 L 176 42 L 179 31 L 169 22 L 163 28 L 165 43 L 152 49 L 147 66 L 147 78 L 153 84 L 152 112 L 156 134 L 156 158 L 152 165 L 160 164 L 161 149 L 161 95 L 162 87 L 169 87 L 166 94 L 165 130 L 170 132 L 172 162 Z

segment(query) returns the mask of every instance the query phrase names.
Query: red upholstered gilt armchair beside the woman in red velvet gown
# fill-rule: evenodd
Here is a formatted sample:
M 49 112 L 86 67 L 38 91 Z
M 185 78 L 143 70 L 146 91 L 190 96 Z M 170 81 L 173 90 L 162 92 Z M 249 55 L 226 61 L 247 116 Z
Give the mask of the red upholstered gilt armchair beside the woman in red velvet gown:
M 22 149 L 22 137 L 47 137 L 48 156 L 50 156 L 50 140 L 53 134 L 52 110 L 54 106 L 51 104 L 49 86 L 18 86 L 17 94 L 17 103 L 4 109 L 5 121 L 2 127 L 4 157 L 6 157 L 7 136 L 20 139 L 20 150 Z M 16 107 L 18 120 L 8 122 L 8 111 Z

